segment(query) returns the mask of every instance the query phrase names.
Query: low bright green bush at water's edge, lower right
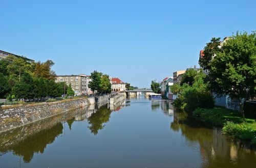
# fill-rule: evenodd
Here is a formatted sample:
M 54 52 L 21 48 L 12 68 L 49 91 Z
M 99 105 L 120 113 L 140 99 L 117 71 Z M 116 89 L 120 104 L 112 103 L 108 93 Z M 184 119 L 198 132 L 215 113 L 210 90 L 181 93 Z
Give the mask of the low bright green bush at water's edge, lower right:
M 248 123 L 235 124 L 228 121 L 222 131 L 224 134 L 244 140 L 250 140 L 252 143 L 255 143 L 256 140 L 256 131 Z

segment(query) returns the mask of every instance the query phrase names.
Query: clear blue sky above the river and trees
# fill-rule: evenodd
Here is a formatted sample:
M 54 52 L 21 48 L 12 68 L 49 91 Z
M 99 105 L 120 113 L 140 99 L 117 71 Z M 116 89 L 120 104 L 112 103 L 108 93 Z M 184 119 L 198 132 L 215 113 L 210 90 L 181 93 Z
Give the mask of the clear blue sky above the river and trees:
M 93 70 L 132 86 L 198 65 L 211 37 L 256 30 L 256 1 L 4 1 L 0 50 L 53 60 L 58 75 Z

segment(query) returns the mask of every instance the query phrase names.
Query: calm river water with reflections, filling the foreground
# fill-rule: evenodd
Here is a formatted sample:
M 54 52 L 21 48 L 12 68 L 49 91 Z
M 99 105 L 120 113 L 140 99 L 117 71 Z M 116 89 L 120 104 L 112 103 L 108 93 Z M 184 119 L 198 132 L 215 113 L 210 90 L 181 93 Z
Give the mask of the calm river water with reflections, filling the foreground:
M 256 151 L 175 111 L 127 98 L 0 134 L 0 167 L 255 167 Z

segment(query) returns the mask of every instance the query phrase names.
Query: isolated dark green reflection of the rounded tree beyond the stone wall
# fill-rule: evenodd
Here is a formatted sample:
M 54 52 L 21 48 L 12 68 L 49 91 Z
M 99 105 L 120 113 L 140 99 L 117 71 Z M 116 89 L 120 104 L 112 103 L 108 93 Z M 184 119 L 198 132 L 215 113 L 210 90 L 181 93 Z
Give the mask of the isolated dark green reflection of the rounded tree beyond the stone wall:
M 101 106 L 96 113 L 92 114 L 88 118 L 88 123 L 91 124 L 88 128 L 91 130 L 91 133 L 97 135 L 98 130 L 103 129 L 103 123 L 109 122 L 111 110 L 108 108 L 108 105 Z

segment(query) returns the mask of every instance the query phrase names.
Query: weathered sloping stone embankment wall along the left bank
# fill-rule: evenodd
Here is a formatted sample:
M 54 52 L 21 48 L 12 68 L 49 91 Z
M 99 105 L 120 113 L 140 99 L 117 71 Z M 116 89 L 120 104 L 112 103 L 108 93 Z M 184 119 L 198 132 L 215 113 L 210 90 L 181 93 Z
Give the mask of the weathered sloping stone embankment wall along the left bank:
M 88 99 L 80 98 L 2 109 L 0 110 L 0 132 L 88 105 Z

